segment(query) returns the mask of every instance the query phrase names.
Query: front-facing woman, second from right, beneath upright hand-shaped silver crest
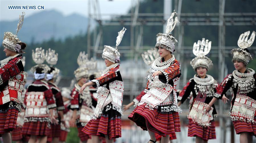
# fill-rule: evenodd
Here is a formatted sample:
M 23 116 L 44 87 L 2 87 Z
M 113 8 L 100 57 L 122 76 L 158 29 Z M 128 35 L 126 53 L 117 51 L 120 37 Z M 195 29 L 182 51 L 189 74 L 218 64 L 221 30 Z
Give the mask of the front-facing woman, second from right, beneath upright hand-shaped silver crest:
M 209 139 L 216 139 L 214 114 L 217 114 L 213 105 L 210 113 L 205 113 L 208 103 L 212 100 L 216 87 L 214 78 L 207 73 L 209 66 L 212 66 L 210 58 L 206 57 L 211 49 L 211 41 L 202 39 L 193 45 L 193 53 L 196 56 L 190 64 L 197 74 L 189 79 L 189 82 L 179 94 L 180 106 L 192 92 L 193 101 L 189 107 L 188 136 L 195 136 L 195 142 L 208 142 Z

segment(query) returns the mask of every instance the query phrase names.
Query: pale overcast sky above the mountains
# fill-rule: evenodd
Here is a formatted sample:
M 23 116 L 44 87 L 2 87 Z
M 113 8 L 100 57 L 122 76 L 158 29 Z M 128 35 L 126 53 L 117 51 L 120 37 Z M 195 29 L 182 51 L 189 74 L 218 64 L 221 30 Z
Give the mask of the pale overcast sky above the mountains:
M 100 12 L 102 14 L 125 14 L 132 5 L 135 5 L 136 0 L 98 0 Z M 35 5 L 44 6 L 44 10 L 57 10 L 65 16 L 77 13 L 83 16 L 88 16 L 88 0 L 70 1 L 70 0 L 0 0 L 0 20 L 13 21 L 18 19 L 18 15 L 22 11 L 26 13 L 26 17 L 42 10 L 9 10 L 8 5 Z M 91 5 L 95 3 L 90 2 Z M 91 11 L 93 12 L 93 8 Z M 108 18 L 108 17 L 103 17 Z

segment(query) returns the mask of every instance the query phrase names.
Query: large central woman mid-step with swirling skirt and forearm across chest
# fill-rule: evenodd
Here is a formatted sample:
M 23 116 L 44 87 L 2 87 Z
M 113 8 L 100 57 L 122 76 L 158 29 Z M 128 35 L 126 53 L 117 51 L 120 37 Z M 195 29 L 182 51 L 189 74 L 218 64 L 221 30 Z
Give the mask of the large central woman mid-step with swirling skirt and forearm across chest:
M 128 116 L 150 135 L 150 143 L 156 142 L 155 133 L 162 136 L 162 142 L 169 142 L 169 136 L 180 132 L 179 113 L 177 105 L 176 85 L 181 75 L 180 64 L 172 54 L 177 40 L 170 33 L 176 23 L 173 12 L 168 19 L 166 33 L 157 34 L 156 45 L 160 57 L 157 58 L 149 71 L 148 82 L 137 107 Z

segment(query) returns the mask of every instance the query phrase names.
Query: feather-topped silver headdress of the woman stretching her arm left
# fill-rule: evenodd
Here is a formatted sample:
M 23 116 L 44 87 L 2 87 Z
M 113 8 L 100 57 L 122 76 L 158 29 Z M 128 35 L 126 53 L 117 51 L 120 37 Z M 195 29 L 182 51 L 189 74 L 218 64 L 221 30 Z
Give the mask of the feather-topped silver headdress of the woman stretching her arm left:
M 110 60 L 111 62 L 115 62 L 115 63 L 120 61 L 120 59 L 119 59 L 120 53 L 117 50 L 117 46 L 121 43 L 125 31 L 126 31 L 126 28 L 123 27 L 123 29 L 118 32 L 118 36 L 116 37 L 115 48 L 108 46 L 108 45 L 104 45 L 102 58 L 104 58 L 104 59 L 106 58 L 106 59 Z

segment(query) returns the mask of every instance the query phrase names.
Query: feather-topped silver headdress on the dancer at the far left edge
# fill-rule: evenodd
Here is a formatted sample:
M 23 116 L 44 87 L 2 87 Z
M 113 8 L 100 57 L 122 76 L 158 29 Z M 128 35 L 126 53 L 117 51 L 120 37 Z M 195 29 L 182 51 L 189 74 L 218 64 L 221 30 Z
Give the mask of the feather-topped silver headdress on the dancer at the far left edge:
M 25 15 L 25 12 L 22 12 L 22 15 L 19 16 L 19 22 L 18 22 L 18 25 L 17 25 L 15 35 L 11 32 L 5 32 L 4 33 L 4 40 L 3 40 L 2 44 L 3 44 L 3 47 L 5 47 L 6 49 L 9 49 L 11 51 L 15 51 L 15 52 L 18 52 L 18 53 L 24 53 L 24 51 L 22 51 L 20 49 L 20 45 L 18 43 L 20 43 L 21 41 L 17 37 L 17 34 L 18 34 L 18 32 L 20 31 L 20 29 L 23 25 L 24 15 Z M 16 50 L 16 49 L 18 49 L 18 50 Z

